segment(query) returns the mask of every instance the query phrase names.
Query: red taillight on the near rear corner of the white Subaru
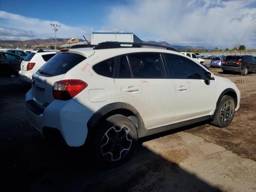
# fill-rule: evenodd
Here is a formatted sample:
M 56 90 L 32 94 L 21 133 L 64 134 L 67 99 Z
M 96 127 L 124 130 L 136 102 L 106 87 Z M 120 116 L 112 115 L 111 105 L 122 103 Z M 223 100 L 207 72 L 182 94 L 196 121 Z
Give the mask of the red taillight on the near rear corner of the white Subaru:
M 87 86 L 86 82 L 78 79 L 61 80 L 54 83 L 52 93 L 55 99 L 70 100 Z

